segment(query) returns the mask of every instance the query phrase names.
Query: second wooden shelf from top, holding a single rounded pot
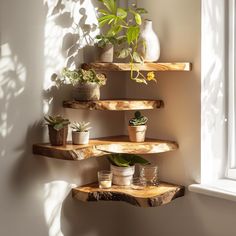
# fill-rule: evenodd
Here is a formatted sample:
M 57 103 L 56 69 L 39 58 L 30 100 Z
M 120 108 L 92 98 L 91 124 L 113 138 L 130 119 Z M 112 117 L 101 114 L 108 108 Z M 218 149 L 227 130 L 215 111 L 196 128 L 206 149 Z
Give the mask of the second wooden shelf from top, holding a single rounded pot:
M 98 101 L 64 101 L 63 107 L 72 109 L 87 110 L 148 110 L 164 107 L 162 100 L 141 100 L 141 99 L 119 99 L 119 100 L 98 100 Z

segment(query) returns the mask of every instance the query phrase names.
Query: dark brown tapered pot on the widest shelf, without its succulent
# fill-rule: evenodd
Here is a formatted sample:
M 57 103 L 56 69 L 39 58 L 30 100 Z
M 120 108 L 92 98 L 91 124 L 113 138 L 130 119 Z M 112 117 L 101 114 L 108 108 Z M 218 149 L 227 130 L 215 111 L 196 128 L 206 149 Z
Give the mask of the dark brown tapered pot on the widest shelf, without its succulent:
M 68 134 L 68 125 L 60 130 L 55 130 L 53 126 L 48 125 L 49 140 L 52 146 L 65 146 Z

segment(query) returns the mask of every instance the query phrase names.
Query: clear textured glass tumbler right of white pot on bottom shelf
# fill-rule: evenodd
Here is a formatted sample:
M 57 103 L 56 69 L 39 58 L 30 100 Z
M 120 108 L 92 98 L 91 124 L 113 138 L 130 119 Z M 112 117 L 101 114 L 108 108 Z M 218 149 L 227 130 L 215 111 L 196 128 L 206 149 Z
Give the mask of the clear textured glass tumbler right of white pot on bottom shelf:
M 146 180 L 147 186 L 157 186 L 158 183 L 158 166 L 157 165 L 141 165 L 140 178 Z

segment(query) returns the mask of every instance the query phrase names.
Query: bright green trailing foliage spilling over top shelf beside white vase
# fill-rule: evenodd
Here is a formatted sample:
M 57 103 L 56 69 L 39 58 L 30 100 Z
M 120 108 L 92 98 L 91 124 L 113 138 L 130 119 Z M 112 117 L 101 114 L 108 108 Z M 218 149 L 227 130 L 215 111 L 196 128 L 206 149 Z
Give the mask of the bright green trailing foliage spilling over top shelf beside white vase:
M 113 37 L 115 41 L 113 45 L 118 45 L 117 57 L 128 58 L 131 66 L 130 77 L 138 83 L 145 83 L 154 80 L 153 72 L 147 73 L 145 76 L 140 72 L 135 62 L 143 63 L 143 57 L 138 48 L 145 47 L 145 42 L 140 42 L 142 15 L 147 13 L 144 8 L 137 7 L 132 4 L 129 8 L 121 8 L 116 4 L 116 0 L 99 0 L 103 5 L 98 9 L 99 12 L 99 26 L 105 29 L 104 35 L 106 37 Z

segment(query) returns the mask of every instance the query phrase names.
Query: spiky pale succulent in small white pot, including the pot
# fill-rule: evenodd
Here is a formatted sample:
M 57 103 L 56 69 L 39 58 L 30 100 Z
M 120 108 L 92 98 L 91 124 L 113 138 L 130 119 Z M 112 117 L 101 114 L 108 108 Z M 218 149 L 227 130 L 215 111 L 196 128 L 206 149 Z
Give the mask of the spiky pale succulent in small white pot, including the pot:
M 89 122 L 73 122 L 72 128 L 72 143 L 73 144 L 88 144 L 89 143 Z

